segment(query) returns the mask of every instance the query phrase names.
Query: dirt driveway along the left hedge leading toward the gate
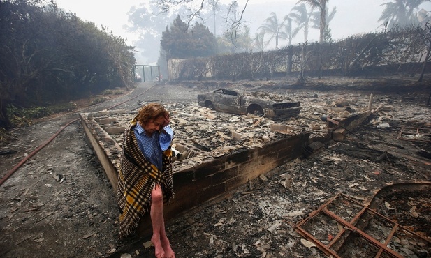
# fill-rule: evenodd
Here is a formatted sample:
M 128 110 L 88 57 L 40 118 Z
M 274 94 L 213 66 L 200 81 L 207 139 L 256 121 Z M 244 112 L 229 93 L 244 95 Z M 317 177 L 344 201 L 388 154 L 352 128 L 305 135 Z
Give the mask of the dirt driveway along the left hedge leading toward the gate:
M 1 176 L 41 146 L 79 112 L 107 109 L 132 93 L 13 131 L 16 141 L 3 150 Z M 144 96 L 143 96 L 144 98 Z M 133 100 L 117 108 L 136 108 Z M 71 123 L 0 188 L 1 257 L 100 257 L 119 245 L 115 195 L 80 121 Z

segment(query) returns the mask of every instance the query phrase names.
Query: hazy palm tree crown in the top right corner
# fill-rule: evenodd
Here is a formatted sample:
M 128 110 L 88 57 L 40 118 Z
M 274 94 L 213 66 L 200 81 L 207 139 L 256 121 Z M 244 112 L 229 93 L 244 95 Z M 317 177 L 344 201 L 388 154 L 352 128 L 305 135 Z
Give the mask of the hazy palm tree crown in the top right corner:
M 423 2 L 431 0 L 392 0 L 381 4 L 386 6 L 379 18 L 379 22 L 388 22 L 388 29 L 394 26 L 418 24 L 418 8 Z

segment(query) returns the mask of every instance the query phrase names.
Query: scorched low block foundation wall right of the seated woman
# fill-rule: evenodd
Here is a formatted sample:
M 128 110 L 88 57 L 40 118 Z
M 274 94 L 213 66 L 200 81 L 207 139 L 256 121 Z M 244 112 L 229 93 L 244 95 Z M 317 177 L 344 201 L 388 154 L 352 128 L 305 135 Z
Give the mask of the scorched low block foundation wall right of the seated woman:
M 178 214 L 195 208 L 298 158 L 302 155 L 308 137 L 308 134 L 295 135 L 266 144 L 262 148 L 225 155 L 176 172 L 173 175 L 175 198 L 166 206 L 167 213 Z

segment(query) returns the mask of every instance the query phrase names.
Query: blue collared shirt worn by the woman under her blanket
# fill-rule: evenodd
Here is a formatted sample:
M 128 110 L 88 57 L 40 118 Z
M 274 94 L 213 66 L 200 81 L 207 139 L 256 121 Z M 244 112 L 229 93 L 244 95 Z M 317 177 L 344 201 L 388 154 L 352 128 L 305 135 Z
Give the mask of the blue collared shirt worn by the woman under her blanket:
M 144 157 L 152 162 L 159 170 L 162 169 L 162 152 L 166 151 L 170 142 L 173 139 L 173 130 L 170 126 L 165 126 L 162 132 L 153 132 L 151 136 L 145 133 L 145 130 L 139 123 L 136 123 L 135 128 L 136 140 L 140 151 L 143 152 Z

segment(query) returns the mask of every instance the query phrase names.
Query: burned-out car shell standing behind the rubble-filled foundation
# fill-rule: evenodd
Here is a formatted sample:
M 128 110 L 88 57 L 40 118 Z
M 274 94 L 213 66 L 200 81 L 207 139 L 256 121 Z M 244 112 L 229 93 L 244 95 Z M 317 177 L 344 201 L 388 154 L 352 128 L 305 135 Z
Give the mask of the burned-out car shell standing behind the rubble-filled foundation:
M 300 103 L 284 96 L 265 92 L 242 93 L 229 89 L 216 89 L 198 94 L 198 104 L 220 112 L 232 114 L 256 114 L 270 119 L 284 119 L 297 116 Z

